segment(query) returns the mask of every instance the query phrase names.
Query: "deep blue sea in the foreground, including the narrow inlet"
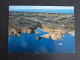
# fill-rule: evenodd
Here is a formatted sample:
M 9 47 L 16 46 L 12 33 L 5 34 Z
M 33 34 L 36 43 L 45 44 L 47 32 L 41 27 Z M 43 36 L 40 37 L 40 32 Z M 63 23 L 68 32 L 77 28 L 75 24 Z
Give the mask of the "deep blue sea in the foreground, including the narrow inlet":
M 75 37 L 66 34 L 62 40 L 55 41 L 47 38 L 36 40 L 37 36 L 48 34 L 40 28 L 36 33 L 21 33 L 20 36 L 8 35 L 8 53 L 75 53 Z

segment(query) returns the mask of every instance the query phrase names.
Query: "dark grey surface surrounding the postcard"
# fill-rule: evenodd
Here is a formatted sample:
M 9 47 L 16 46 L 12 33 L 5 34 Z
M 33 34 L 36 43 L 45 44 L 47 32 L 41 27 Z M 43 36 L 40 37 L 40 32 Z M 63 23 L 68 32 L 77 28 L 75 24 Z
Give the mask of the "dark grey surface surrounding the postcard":
M 75 53 L 8 53 L 9 5 L 74 6 Z M 1 1 L 0 54 L 2 60 L 80 60 L 80 1 L 79 0 L 5 0 Z

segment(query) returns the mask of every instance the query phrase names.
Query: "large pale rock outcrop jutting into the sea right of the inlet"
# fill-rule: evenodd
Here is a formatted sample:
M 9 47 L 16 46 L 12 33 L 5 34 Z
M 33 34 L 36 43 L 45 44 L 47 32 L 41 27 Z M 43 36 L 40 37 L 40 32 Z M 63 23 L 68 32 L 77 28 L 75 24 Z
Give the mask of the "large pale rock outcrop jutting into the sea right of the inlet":
M 54 32 L 49 32 L 48 34 L 42 35 L 41 37 L 52 39 L 52 40 L 62 40 L 62 37 L 68 32 L 65 30 L 55 30 Z

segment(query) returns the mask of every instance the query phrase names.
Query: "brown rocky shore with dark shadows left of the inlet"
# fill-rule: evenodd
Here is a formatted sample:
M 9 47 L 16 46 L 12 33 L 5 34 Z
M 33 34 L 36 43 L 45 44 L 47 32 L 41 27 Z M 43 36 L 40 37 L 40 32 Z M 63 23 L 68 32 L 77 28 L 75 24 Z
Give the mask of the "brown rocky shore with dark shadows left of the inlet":
M 41 34 L 40 32 L 35 31 L 36 28 L 22 28 L 21 30 L 16 30 L 14 28 L 8 29 L 8 35 L 16 35 L 16 36 L 22 36 L 20 33 L 36 33 Z

